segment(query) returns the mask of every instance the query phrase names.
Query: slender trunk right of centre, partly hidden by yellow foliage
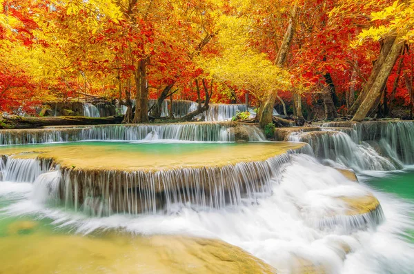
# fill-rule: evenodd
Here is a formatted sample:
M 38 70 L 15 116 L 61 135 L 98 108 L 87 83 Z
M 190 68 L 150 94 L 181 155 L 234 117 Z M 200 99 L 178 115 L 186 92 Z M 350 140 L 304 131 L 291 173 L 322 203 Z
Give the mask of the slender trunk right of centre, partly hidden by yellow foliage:
M 295 6 L 293 6 L 292 15 L 289 19 L 288 28 L 286 29 L 286 34 L 282 41 L 282 45 L 280 46 L 280 49 L 277 52 L 277 57 L 275 60 L 275 65 L 279 68 L 283 68 L 286 64 L 286 59 L 288 58 L 290 46 L 292 45 L 293 41 L 293 35 L 295 35 L 298 11 L 299 9 L 297 8 L 297 4 L 295 3 Z M 273 106 L 275 106 L 276 98 L 277 90 L 273 90 L 269 93 L 268 98 L 262 106 L 262 113 L 259 117 L 259 123 L 262 128 L 264 128 L 264 126 L 266 126 L 267 124 L 273 122 Z

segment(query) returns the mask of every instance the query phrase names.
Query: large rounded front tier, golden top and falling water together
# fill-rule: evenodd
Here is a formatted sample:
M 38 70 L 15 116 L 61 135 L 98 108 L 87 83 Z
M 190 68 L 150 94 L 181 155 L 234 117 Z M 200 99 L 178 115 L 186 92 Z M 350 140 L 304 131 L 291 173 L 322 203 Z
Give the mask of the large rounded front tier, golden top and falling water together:
M 13 182 L 37 182 L 50 199 L 92 215 L 170 213 L 187 203 L 222 208 L 270 195 L 289 153 L 303 146 L 78 143 L 5 148 L 3 154 L 14 156 L 6 157 L 3 174 Z M 33 151 L 40 154 L 28 158 Z M 165 151 L 166 158 L 160 159 Z

